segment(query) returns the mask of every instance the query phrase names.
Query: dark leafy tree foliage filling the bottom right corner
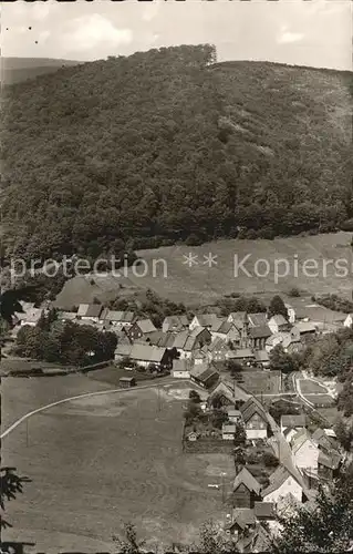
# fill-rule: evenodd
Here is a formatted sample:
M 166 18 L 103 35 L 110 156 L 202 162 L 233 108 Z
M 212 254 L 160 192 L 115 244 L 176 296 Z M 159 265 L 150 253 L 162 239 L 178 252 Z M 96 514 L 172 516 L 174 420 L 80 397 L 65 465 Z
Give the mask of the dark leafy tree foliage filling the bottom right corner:
M 281 535 L 272 554 L 339 553 L 353 545 L 353 471 L 347 466 L 326 492 L 320 486 L 315 505 L 299 506 L 290 516 L 278 515 Z

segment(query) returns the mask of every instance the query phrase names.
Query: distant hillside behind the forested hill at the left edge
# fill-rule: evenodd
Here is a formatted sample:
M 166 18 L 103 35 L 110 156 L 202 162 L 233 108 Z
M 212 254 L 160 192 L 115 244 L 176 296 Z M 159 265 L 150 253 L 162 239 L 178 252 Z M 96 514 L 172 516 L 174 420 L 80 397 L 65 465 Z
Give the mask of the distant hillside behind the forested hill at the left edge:
M 20 83 L 79 63 L 52 58 L 1 58 L 0 81 L 2 85 Z

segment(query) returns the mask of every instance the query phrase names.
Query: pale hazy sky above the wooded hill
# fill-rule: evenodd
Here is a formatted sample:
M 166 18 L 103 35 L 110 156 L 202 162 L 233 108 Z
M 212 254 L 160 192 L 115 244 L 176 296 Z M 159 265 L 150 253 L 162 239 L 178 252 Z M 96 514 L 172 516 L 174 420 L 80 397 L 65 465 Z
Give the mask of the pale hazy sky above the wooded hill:
M 352 70 L 352 6 L 351 0 L 18 0 L 1 7 L 1 54 L 91 61 L 209 42 L 219 61 Z

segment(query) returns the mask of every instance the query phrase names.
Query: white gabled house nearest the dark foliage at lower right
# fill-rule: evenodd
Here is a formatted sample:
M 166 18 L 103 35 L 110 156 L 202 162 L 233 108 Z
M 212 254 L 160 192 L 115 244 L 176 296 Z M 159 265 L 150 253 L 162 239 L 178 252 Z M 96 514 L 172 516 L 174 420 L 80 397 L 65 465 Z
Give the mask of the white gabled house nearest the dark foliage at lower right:
M 262 491 L 262 501 L 282 504 L 288 495 L 302 503 L 305 500 L 304 483 L 301 483 L 283 465 L 279 465 L 269 478 L 269 485 Z

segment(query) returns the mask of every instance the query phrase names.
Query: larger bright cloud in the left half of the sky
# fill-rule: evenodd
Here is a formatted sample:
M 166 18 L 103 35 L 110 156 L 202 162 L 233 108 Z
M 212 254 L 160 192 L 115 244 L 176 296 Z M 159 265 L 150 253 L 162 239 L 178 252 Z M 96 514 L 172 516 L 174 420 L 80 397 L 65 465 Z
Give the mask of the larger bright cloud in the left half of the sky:
M 72 20 L 62 39 L 68 50 L 84 52 L 102 45 L 129 44 L 133 33 L 131 29 L 117 29 L 103 16 L 92 13 Z

